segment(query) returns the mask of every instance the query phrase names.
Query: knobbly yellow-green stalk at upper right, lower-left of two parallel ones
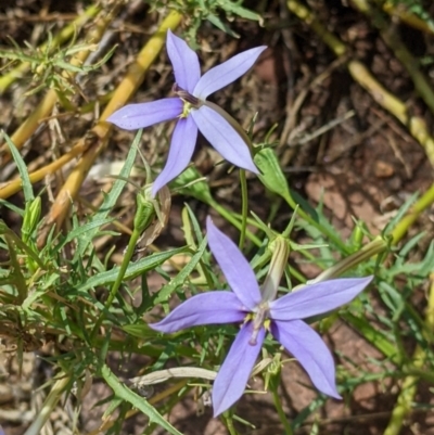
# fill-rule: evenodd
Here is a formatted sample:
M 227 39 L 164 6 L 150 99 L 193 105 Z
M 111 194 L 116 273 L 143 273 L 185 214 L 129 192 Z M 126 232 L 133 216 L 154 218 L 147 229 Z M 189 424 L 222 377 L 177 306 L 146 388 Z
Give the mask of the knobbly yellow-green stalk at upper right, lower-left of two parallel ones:
M 331 34 L 303 4 L 296 0 L 289 0 L 286 5 L 299 20 L 307 23 L 312 30 L 341 57 L 347 55 L 347 47 Z M 359 61 L 348 60 L 347 68 L 353 78 L 365 88 L 370 95 L 387 112 L 394 115 L 407 127 L 411 136 L 422 145 L 431 165 L 434 167 L 434 139 L 430 136 L 424 120 L 419 116 L 408 114 L 406 104 L 388 92 L 371 74 L 366 65 Z

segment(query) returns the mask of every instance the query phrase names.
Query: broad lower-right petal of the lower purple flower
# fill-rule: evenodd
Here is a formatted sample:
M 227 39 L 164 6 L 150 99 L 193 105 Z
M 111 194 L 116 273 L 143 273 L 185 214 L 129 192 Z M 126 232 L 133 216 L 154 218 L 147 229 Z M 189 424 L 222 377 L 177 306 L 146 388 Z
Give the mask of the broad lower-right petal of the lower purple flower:
M 336 399 L 342 398 L 336 389 L 333 357 L 310 327 L 302 320 L 272 321 L 271 334 L 298 360 L 321 393 Z

